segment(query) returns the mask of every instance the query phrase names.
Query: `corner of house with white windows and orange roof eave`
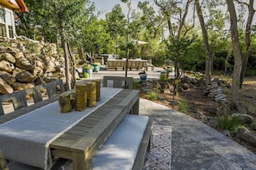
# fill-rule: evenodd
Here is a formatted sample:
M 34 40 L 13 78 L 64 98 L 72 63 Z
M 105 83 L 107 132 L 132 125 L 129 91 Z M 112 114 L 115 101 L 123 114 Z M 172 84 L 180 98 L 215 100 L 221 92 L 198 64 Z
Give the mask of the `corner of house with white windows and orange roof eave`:
M 15 38 L 14 11 L 28 12 L 28 8 L 23 0 L 0 0 L 0 37 Z

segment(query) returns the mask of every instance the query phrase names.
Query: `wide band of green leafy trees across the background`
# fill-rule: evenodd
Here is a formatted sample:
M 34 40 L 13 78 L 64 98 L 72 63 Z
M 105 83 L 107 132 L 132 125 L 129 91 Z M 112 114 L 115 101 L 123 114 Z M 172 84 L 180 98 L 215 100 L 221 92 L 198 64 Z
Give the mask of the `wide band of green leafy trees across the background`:
M 30 12 L 17 13 L 16 32 L 59 46 L 68 41 L 72 49 L 83 48 L 91 56 L 112 53 L 119 58 L 152 58 L 153 64 L 171 63 L 183 70 L 223 74 L 239 70 L 239 77 L 256 75 L 254 0 L 235 0 L 232 10 L 229 0 L 141 1 L 128 14 L 123 3 L 131 7 L 131 1 L 121 0 L 100 18 L 102 11 L 90 0 L 27 0 Z M 237 15 L 235 21 L 232 14 Z M 134 40 L 138 39 L 148 44 L 137 46 Z M 241 65 L 236 63 L 237 52 Z M 208 60 L 209 70 L 205 70 Z

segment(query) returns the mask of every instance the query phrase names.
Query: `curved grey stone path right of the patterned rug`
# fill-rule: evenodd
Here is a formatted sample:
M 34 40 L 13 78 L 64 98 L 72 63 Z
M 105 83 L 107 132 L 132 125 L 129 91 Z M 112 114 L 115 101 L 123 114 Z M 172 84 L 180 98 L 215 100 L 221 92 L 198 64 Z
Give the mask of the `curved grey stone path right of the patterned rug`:
M 195 118 L 141 98 L 140 114 L 172 126 L 173 170 L 256 169 L 256 155 Z

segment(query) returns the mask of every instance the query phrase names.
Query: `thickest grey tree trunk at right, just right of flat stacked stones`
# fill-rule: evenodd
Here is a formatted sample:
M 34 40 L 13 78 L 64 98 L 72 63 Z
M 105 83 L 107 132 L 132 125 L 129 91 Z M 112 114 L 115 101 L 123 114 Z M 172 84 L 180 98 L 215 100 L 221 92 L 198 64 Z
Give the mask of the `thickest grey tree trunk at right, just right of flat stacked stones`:
M 232 45 L 234 52 L 234 71 L 233 71 L 233 82 L 232 82 L 232 103 L 237 106 L 240 100 L 240 72 L 241 72 L 241 52 L 239 34 L 237 29 L 237 15 L 234 8 L 234 1 L 227 0 L 228 12 L 230 15 L 230 29 L 232 37 Z

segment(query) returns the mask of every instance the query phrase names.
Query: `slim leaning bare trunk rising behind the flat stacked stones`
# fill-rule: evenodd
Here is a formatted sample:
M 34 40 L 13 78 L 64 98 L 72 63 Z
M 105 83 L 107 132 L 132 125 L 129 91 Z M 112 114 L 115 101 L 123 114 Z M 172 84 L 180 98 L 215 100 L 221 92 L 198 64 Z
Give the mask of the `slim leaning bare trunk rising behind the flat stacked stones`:
M 206 83 L 209 84 L 210 76 L 211 76 L 212 55 L 211 55 L 211 50 L 210 50 L 210 46 L 209 46 L 208 33 L 207 33 L 207 29 L 204 24 L 203 13 L 202 13 L 202 9 L 199 4 L 199 0 L 195 0 L 195 4 L 196 4 L 196 8 L 197 8 L 197 15 L 198 15 L 200 25 L 202 28 L 204 48 L 208 55 L 208 58 L 206 58 L 206 62 L 205 62 L 205 76 L 206 76 L 205 78 L 206 78 Z

